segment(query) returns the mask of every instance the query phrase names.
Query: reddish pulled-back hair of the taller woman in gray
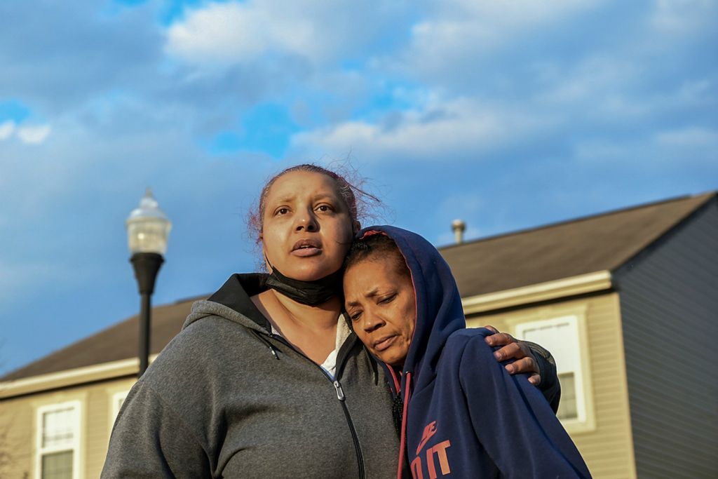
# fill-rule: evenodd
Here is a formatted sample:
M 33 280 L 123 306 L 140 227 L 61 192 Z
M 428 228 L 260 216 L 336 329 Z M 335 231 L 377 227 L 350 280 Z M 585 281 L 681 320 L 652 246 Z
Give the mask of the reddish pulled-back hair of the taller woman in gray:
M 363 216 L 365 215 L 365 210 L 367 209 L 369 203 L 377 205 L 381 204 L 381 200 L 379 200 L 378 197 L 371 195 L 368 192 L 365 192 L 357 186 L 364 182 L 361 179 L 350 182 L 346 179 L 346 177 L 349 176 L 348 174 L 340 175 L 337 172 L 333 172 L 331 169 L 320 167 L 316 164 L 297 164 L 294 167 L 289 167 L 281 170 L 281 172 L 277 173 L 276 175 L 274 175 L 274 177 L 271 177 L 269 181 L 266 182 L 264 188 L 262 188 L 262 191 L 259 195 L 257 204 L 252 208 L 251 212 L 249 213 L 248 226 L 249 229 L 254 232 L 257 242 L 260 241 L 262 228 L 264 227 L 264 209 L 266 207 L 266 199 L 267 195 L 269 195 L 269 189 L 272 185 L 274 185 L 274 182 L 276 182 L 276 180 L 279 180 L 279 178 L 283 177 L 287 173 L 292 172 L 319 173 L 320 175 L 326 175 L 327 177 L 330 177 L 332 180 L 334 180 L 334 183 L 337 187 L 337 192 L 339 193 L 342 200 L 344 200 L 344 203 L 345 205 L 347 205 L 347 209 L 349 210 L 349 216 L 352 221 L 352 228 L 354 228 L 355 223 L 359 221 L 360 218 L 363 218 Z M 358 177 L 355 172 L 352 176 Z

